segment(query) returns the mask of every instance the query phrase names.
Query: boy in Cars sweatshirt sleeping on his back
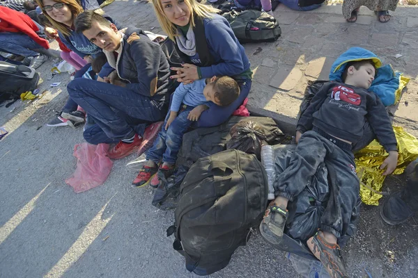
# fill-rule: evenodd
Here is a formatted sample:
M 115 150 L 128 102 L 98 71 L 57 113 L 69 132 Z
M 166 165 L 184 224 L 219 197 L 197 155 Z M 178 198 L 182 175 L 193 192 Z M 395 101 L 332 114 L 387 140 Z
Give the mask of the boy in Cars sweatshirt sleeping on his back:
M 289 166 L 274 181 L 278 197 L 270 203 L 260 224 L 263 238 L 279 246 L 288 202 L 304 190 L 318 165 L 325 162 L 332 180 L 330 199 L 320 218 L 319 230 L 307 240 L 307 245 L 331 277 L 348 277 L 337 238 L 346 234 L 353 210 L 359 206 L 359 180 L 351 149 L 353 142 L 362 137 L 366 119 L 389 153 L 380 167 L 386 167 L 383 174 L 391 174 L 398 160 L 389 115 L 379 97 L 367 91 L 375 73 L 371 60 L 349 62 L 342 75 L 344 83 L 327 82 L 314 96 L 297 122 L 297 147 Z

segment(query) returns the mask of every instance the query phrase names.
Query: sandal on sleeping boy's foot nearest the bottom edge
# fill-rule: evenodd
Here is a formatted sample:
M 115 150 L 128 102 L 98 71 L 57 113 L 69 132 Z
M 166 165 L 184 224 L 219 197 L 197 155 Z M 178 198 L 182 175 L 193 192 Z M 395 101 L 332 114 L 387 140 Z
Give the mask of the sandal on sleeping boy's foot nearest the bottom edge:
M 307 245 L 316 259 L 327 268 L 328 274 L 332 278 L 348 278 L 346 267 L 344 266 L 343 256 L 338 244 L 331 244 L 325 241 L 322 232 L 317 232 L 315 236 L 309 238 Z

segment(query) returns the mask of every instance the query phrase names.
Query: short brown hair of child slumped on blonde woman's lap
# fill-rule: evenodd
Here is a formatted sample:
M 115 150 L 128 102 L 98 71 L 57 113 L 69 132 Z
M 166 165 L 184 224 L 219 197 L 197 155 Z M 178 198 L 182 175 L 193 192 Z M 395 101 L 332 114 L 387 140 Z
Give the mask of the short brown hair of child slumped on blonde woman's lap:
M 219 100 L 219 105 L 229 106 L 240 95 L 240 86 L 237 81 L 229 76 L 218 77 L 213 81 L 215 97 Z

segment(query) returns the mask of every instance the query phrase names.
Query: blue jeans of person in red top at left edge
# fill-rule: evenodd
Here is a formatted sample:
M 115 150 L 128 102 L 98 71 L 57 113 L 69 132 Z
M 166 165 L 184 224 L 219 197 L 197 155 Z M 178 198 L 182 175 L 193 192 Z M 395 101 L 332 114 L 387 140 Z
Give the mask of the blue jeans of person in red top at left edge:
M 33 49 L 41 49 L 29 35 L 22 33 L 0 33 L 0 49 L 8 53 L 24 57 L 38 56 L 39 53 Z

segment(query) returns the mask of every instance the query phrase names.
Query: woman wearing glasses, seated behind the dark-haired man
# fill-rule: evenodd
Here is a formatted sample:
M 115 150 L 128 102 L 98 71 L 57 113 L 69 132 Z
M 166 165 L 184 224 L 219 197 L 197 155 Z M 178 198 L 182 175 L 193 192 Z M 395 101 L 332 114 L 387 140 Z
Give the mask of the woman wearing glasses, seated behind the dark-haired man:
M 82 77 L 86 73 L 91 62 L 102 52 L 100 47 L 90 42 L 82 33 L 77 33 L 74 27 L 74 20 L 77 15 L 83 13 L 83 8 L 77 0 L 36 0 L 42 13 L 47 17 L 56 31 L 58 31 L 61 42 L 65 44 L 71 51 L 86 60 L 87 65 L 77 71 L 75 78 Z M 98 11 L 98 13 L 101 13 Z M 106 17 L 109 22 L 114 23 L 110 17 Z M 117 24 L 116 24 L 117 25 Z M 118 26 L 120 27 L 120 26 Z M 54 35 L 54 34 L 49 34 Z M 113 69 L 109 64 L 105 64 L 99 73 L 98 80 L 103 81 L 104 76 L 107 76 Z M 83 111 L 77 110 L 77 104 L 72 99 L 68 98 L 67 103 L 63 107 L 63 111 L 58 117 L 49 122 L 48 126 L 75 126 L 84 122 L 85 114 Z

